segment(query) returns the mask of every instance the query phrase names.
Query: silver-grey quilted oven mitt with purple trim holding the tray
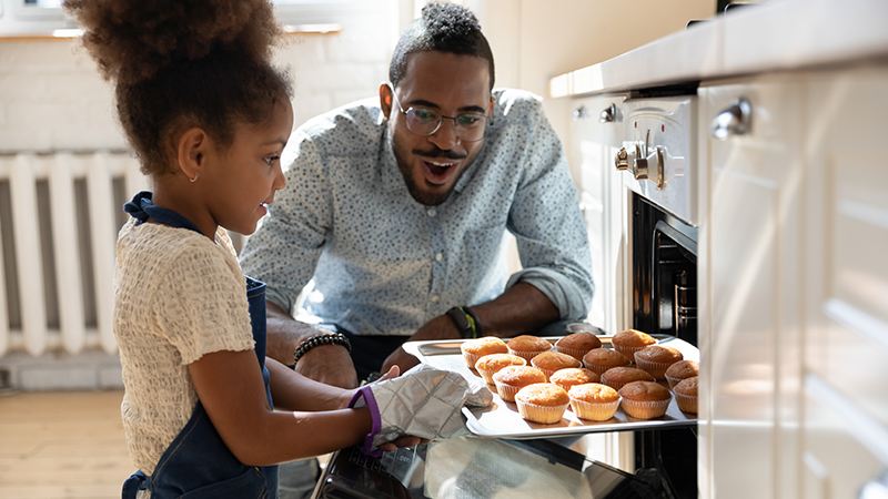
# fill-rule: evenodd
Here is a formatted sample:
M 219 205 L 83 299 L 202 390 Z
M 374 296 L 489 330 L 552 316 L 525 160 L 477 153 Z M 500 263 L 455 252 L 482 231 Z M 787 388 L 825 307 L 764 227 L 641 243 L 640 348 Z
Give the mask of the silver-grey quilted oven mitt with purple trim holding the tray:
M 468 435 L 463 406 L 485 407 L 492 401 L 493 395 L 483 383 L 470 383 L 458 373 L 420 364 L 396 378 L 359 388 L 349 407 L 370 407 L 373 430 L 361 450 L 379 457 L 381 444 L 405 435 L 430 440 Z

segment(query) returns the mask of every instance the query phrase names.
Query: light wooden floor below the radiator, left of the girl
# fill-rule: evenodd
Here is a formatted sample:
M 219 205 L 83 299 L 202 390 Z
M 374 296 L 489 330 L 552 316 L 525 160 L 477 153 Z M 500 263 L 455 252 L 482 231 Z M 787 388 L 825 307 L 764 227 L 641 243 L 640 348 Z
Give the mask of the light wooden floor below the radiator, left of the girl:
M 0 498 L 120 498 L 123 391 L 0 395 Z

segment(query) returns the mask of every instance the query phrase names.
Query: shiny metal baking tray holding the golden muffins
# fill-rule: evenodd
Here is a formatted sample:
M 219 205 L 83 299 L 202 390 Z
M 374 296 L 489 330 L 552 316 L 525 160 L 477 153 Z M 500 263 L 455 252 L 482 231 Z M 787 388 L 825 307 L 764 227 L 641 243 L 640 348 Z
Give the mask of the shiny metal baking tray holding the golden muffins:
M 659 342 L 658 345 L 670 346 L 682 353 L 686 360 L 700 359 L 699 350 L 687 342 L 668 335 L 652 335 Z M 561 337 L 545 337 L 549 343 L 555 344 Z M 599 336 L 603 348 L 613 348 L 610 345 L 612 336 Z M 507 339 L 506 339 L 507 340 Z M 483 378 L 470 369 L 463 360 L 460 344 L 465 339 L 440 339 L 428 342 L 407 342 L 403 348 L 408 354 L 417 357 L 421 361 L 431 364 L 441 369 L 447 369 L 462 374 L 466 379 L 484 383 Z M 659 381 L 668 388 L 665 380 Z M 594 434 L 603 431 L 634 431 L 645 429 L 660 429 L 669 427 L 686 427 L 697 424 L 696 415 L 683 413 L 678 409 L 678 404 L 673 397 L 666 415 L 655 419 L 635 419 L 627 416 L 622 408 L 613 418 L 607 421 L 587 421 L 577 418 L 568 408 L 564 411 L 564 417 L 559 422 L 552 425 L 541 425 L 524 420 L 518 414 L 514 403 L 508 403 L 500 398 L 496 389 L 488 386 L 493 393 L 493 404 L 481 409 L 463 408 L 466 417 L 466 427 L 480 437 L 490 438 L 511 438 L 511 439 L 533 439 L 533 438 L 555 438 L 567 437 L 583 434 Z

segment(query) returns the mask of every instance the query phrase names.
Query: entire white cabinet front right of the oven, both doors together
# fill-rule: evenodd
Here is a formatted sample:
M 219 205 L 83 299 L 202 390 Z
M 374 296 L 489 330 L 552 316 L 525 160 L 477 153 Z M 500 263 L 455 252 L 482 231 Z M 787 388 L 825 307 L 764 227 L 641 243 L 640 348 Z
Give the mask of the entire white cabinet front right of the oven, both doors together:
M 857 498 L 888 469 L 888 70 L 704 84 L 704 498 Z

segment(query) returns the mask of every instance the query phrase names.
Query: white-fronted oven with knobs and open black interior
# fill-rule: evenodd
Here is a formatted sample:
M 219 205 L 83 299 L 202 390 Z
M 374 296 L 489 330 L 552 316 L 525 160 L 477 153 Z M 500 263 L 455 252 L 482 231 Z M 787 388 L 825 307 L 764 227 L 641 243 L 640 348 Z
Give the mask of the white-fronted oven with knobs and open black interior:
M 616 128 L 608 167 L 626 191 L 626 265 L 609 269 L 627 274 L 626 327 L 698 347 L 696 89 L 630 92 L 615 110 L 599 121 Z M 662 480 L 667 497 L 698 496 L 696 426 L 636 431 L 633 440 L 637 472 Z

